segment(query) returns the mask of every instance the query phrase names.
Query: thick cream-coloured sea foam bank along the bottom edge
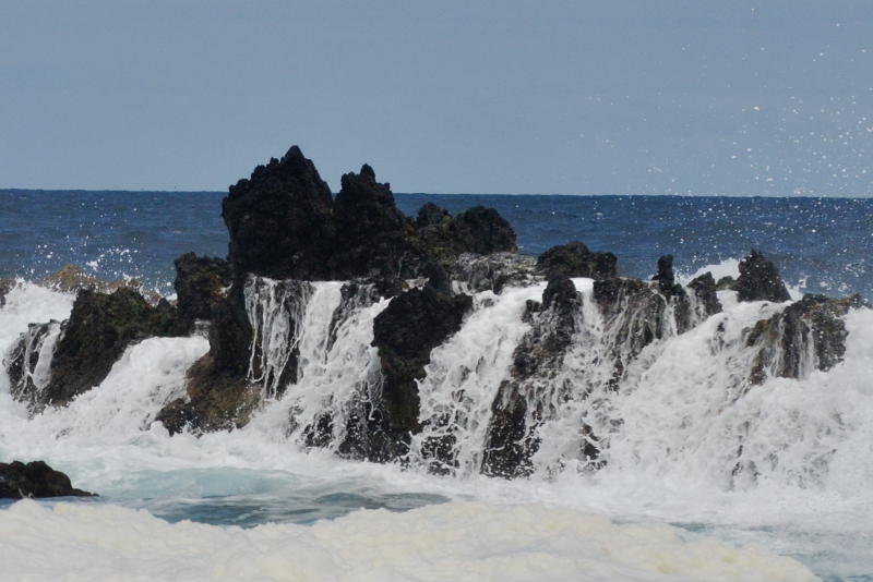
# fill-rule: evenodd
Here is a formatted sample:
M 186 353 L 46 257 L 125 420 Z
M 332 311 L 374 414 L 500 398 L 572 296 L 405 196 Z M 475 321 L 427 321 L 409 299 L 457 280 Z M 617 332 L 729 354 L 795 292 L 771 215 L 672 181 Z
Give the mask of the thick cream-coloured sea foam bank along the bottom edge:
M 817 580 L 762 548 L 683 537 L 668 525 L 481 502 L 360 510 L 312 526 L 252 530 L 169 524 L 109 505 L 25 500 L 0 511 L 5 580 Z

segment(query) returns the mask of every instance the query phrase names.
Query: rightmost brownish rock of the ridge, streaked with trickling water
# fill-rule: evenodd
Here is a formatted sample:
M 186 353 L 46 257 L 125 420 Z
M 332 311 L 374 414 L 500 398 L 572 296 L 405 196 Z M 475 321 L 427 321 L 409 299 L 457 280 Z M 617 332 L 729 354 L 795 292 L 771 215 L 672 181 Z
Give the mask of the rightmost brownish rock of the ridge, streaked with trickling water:
M 860 295 L 829 299 L 808 294 L 757 322 L 746 337 L 746 345 L 758 349 L 750 381 L 761 384 L 769 375 L 802 378 L 813 369 L 830 369 L 846 353 L 848 332 L 842 317 L 863 305 Z

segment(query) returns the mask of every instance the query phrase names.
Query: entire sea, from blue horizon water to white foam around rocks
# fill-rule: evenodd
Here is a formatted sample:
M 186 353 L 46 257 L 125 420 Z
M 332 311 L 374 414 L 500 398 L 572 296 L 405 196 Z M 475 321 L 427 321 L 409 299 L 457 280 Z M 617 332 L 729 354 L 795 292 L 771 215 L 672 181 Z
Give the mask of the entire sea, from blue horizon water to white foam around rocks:
M 73 296 L 35 284 L 67 264 L 171 295 L 176 256 L 226 255 L 222 197 L 0 191 L 0 278 L 19 278 L 0 307 L 0 351 L 28 324 L 69 316 Z M 650 278 L 668 253 L 681 281 L 736 276 L 758 248 L 792 299 L 873 301 L 873 199 L 395 197 L 412 216 L 426 202 L 492 206 L 522 253 L 579 240 L 614 253 L 627 277 Z M 574 283 L 590 296 L 589 280 Z M 407 466 L 300 444 L 289 419 L 340 413 L 332 407 L 368 374 L 372 319 L 387 303 L 360 308 L 327 348 L 340 286 L 313 289 L 301 379 L 242 429 L 170 437 L 153 423 L 208 349 L 200 336 L 139 342 L 99 387 L 33 417 L 0 373 L 0 461 L 43 459 L 100 494 L 0 502 L 0 580 L 873 580 L 873 310 L 846 316 L 840 364 L 738 395 L 739 338 L 784 306 L 721 292 L 723 314 L 643 352 L 632 389 L 562 396 L 534 473 L 507 481 L 476 471 L 477 442 L 542 284 L 477 293 L 431 353 L 421 414 L 464 419 L 452 426 L 458 469 L 442 476 L 416 462 L 421 442 Z M 714 338 L 737 347 L 716 350 Z M 597 366 L 590 338 L 574 341 L 570 384 Z M 598 471 L 567 451 L 581 419 L 610 435 Z M 753 473 L 737 471 L 738 444 Z

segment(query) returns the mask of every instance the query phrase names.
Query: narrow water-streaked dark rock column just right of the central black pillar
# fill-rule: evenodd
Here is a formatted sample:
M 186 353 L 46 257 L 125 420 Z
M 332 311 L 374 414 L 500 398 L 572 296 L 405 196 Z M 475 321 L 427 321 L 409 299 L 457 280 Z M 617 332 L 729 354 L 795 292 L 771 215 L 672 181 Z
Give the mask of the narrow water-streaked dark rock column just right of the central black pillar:
M 581 304 L 573 281 L 557 277 L 543 291 L 542 304 L 528 305 L 525 318 L 531 330 L 515 349 L 510 380 L 500 386 L 491 407 L 482 461 L 485 474 L 511 478 L 531 473 L 530 458 L 539 448 L 536 428 L 552 411 L 528 410 L 529 397 L 538 396 L 539 385 L 560 369 L 577 328 Z

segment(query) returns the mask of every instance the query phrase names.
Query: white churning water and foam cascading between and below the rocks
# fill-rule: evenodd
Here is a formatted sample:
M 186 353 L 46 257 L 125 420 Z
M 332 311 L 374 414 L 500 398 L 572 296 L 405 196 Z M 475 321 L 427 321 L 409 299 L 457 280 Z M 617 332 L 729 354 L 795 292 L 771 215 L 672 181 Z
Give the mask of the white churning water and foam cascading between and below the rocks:
M 430 422 L 398 464 L 339 459 L 343 422 L 326 447 L 304 446 L 315 419 L 347 417 L 379 390 L 372 320 L 390 300 L 345 301 L 340 282 L 251 278 L 264 345 L 252 380 L 266 400 L 241 429 L 170 437 L 154 422 L 208 350 L 199 335 L 135 343 L 99 387 L 33 416 L 3 373 L 0 458 L 46 460 L 100 498 L 4 506 L 0 579 L 873 580 L 873 311 L 846 316 L 845 359 L 828 372 L 808 365 L 738 393 L 743 329 L 788 303 L 721 291 L 723 313 L 647 345 L 615 392 L 590 373 L 609 326 L 591 281 L 574 283 L 579 330 L 563 377 L 533 397 L 558 413 L 539 428 L 528 478 L 478 468 L 522 313 L 545 283 L 474 295 L 431 354 L 419 383 Z M 28 324 L 68 317 L 73 299 L 19 280 L 0 307 L 0 351 Z M 49 357 L 46 342 L 36 349 Z M 278 395 L 290 345 L 298 380 Z M 574 378 L 579 393 L 564 393 Z M 581 423 L 600 435 L 597 471 L 572 453 Z M 424 444 L 447 434 L 454 463 L 439 476 Z

